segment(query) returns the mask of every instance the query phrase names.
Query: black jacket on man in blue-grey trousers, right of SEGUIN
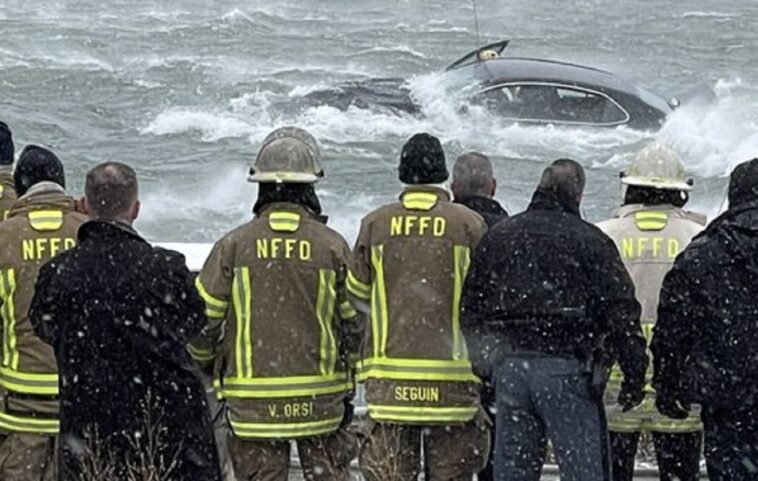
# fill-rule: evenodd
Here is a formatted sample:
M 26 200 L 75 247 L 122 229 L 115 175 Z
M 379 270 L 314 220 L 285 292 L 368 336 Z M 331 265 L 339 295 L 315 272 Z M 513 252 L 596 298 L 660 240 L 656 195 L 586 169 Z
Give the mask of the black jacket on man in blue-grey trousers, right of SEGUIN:
M 606 349 L 630 386 L 641 386 L 647 356 L 639 318 L 613 241 L 580 218 L 575 201 L 538 190 L 526 212 L 479 243 L 461 323 L 472 361 L 485 373 L 493 350 L 586 361 Z

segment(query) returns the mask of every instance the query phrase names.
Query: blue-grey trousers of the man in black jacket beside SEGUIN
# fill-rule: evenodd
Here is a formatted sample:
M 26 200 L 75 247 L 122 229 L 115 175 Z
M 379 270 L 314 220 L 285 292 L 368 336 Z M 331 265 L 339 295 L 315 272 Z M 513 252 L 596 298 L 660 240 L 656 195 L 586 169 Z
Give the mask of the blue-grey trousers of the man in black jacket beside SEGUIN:
M 608 481 L 602 398 L 579 361 L 506 356 L 496 368 L 495 479 L 539 481 L 547 440 L 561 481 Z

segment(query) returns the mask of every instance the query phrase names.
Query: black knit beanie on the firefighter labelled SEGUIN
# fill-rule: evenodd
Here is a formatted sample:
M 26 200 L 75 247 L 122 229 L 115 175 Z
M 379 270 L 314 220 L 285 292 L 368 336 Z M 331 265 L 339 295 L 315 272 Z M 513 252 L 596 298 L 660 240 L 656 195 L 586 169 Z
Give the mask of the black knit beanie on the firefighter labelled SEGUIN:
M 437 137 L 416 134 L 400 154 L 400 182 L 404 184 L 441 184 L 448 177 L 445 151 Z

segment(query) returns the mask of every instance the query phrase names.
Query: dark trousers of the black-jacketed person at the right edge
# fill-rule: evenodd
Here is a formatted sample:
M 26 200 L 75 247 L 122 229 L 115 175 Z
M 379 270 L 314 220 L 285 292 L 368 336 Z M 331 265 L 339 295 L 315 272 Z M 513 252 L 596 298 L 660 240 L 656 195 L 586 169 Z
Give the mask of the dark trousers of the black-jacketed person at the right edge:
M 758 408 L 718 412 L 703 407 L 710 481 L 758 481 Z

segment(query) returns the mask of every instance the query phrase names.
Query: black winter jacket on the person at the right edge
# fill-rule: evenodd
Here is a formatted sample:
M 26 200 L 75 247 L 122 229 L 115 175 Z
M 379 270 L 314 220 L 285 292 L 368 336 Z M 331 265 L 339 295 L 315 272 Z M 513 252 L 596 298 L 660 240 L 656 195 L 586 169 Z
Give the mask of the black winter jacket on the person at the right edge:
M 663 281 L 653 385 L 684 402 L 758 409 L 758 201 L 695 237 Z

